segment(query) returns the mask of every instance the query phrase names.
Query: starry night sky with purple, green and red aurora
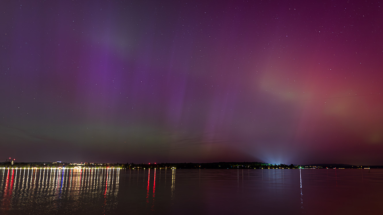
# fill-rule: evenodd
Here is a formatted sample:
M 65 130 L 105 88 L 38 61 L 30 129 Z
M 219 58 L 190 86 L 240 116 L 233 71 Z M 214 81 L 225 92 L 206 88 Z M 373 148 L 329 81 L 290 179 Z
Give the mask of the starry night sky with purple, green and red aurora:
M 382 9 L 2 1 L 0 158 L 383 165 Z

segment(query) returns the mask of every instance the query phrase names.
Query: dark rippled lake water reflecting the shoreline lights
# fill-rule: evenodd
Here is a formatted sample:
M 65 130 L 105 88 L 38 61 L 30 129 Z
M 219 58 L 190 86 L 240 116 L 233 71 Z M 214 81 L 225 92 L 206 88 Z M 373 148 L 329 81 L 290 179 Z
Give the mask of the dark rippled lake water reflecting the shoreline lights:
M 0 170 L 0 214 L 383 214 L 383 170 Z

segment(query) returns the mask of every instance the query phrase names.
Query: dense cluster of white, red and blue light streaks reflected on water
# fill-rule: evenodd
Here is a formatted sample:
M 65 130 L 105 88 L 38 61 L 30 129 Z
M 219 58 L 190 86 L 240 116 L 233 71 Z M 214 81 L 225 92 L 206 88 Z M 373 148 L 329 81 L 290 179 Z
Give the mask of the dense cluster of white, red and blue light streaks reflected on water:
M 0 212 L 5 214 L 107 213 L 117 205 L 119 170 L 3 169 L 0 173 Z M 92 203 L 100 207 L 92 208 Z

